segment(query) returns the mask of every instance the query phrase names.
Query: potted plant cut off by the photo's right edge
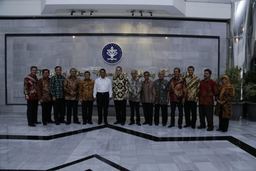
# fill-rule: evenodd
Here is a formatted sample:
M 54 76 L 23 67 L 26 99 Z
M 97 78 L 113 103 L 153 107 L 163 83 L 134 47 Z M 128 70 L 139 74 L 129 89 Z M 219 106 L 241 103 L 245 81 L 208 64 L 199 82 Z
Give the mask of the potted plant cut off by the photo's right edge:
M 256 121 L 256 71 L 246 72 L 246 85 L 244 86 L 246 95 L 247 114 L 250 121 Z

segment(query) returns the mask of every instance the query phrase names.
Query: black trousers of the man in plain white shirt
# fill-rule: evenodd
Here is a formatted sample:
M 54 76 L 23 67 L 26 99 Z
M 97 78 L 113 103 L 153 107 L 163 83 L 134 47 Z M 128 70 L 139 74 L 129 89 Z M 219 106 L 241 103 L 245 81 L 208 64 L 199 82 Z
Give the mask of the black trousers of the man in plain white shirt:
M 98 122 L 102 123 L 102 108 L 103 108 L 103 120 L 107 122 L 108 109 L 109 109 L 109 92 L 100 93 L 97 92 L 97 109 L 98 109 Z

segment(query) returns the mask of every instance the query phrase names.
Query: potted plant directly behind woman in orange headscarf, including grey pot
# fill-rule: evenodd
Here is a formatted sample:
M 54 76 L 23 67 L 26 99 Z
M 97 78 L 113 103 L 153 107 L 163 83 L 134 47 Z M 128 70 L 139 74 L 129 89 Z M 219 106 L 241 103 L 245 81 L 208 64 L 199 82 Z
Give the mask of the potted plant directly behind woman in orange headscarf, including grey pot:
M 242 100 L 242 86 L 245 83 L 245 79 L 241 77 L 242 67 L 235 66 L 233 68 L 229 67 L 229 64 L 226 63 L 226 69 L 223 75 L 229 77 L 230 84 L 233 85 L 235 89 L 235 95 L 232 98 L 232 118 L 230 120 L 238 121 L 243 113 L 243 105 L 245 101 Z M 222 76 L 219 76 L 215 79 L 217 83 L 221 83 Z

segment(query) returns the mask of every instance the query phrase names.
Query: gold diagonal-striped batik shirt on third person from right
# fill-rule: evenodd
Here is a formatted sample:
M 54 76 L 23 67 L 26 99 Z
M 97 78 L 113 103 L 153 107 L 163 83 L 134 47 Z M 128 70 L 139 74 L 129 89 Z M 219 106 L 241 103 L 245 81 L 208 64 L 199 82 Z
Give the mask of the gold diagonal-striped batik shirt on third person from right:
M 199 98 L 199 90 L 200 90 L 200 78 L 196 76 L 195 74 L 192 75 L 192 77 L 189 77 L 186 75 L 184 77 L 187 84 L 187 101 L 195 101 L 195 99 Z

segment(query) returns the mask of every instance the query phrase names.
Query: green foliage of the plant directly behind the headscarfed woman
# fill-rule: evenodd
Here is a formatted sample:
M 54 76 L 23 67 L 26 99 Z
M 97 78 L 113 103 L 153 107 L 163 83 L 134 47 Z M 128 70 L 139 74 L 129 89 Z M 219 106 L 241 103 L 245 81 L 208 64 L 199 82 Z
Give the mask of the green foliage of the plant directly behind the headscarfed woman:
M 245 83 L 245 79 L 241 77 L 242 67 L 241 66 L 235 66 L 233 68 L 229 67 L 229 64 L 226 63 L 226 69 L 224 71 L 224 74 L 221 76 L 215 78 L 215 81 L 219 84 L 221 84 L 221 78 L 223 75 L 227 75 L 229 77 L 230 84 L 233 85 L 235 89 L 235 95 L 232 98 L 232 102 L 238 103 L 242 102 L 242 88 Z

